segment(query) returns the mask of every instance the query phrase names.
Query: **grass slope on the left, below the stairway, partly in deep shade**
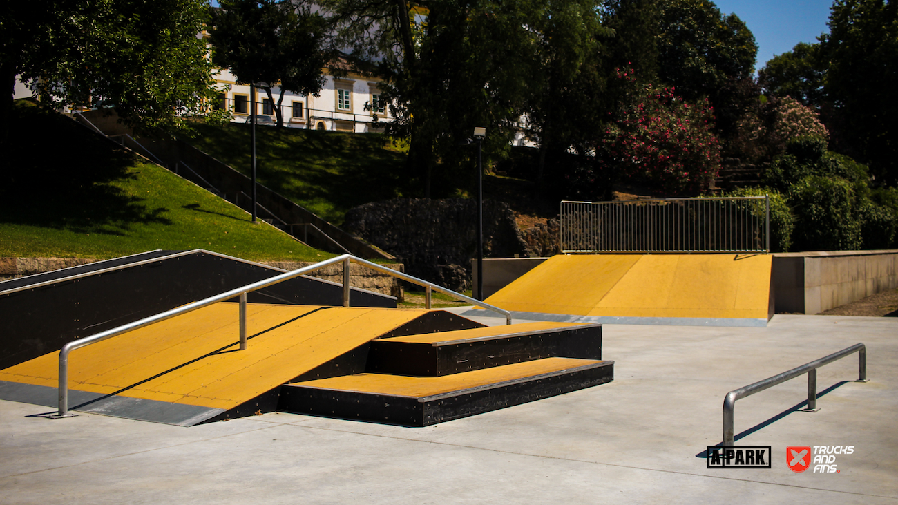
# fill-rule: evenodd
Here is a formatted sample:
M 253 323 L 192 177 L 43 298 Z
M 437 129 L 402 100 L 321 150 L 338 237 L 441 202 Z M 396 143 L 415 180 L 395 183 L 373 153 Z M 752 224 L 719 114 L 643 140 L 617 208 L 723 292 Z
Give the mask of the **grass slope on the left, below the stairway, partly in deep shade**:
M 52 111 L 13 105 L 0 170 L 0 256 L 112 258 L 207 249 L 248 260 L 320 261 L 240 208 Z

